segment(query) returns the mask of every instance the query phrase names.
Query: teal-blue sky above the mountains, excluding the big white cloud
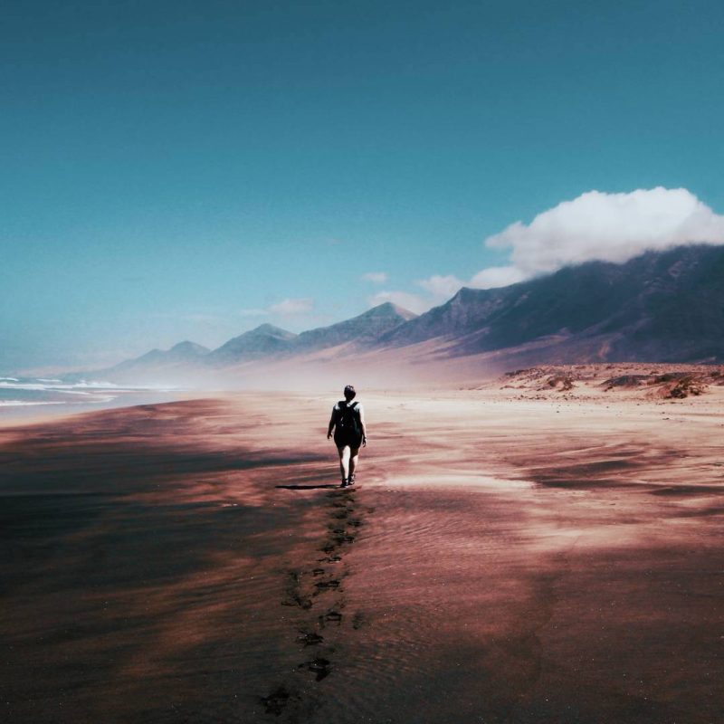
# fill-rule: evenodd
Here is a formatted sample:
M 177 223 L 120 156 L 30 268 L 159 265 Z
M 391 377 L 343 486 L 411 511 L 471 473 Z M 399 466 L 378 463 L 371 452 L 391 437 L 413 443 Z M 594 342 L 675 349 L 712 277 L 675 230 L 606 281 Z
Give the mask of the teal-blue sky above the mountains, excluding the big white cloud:
M 0 372 L 424 308 L 594 190 L 722 214 L 723 37 L 719 0 L 10 0 Z

